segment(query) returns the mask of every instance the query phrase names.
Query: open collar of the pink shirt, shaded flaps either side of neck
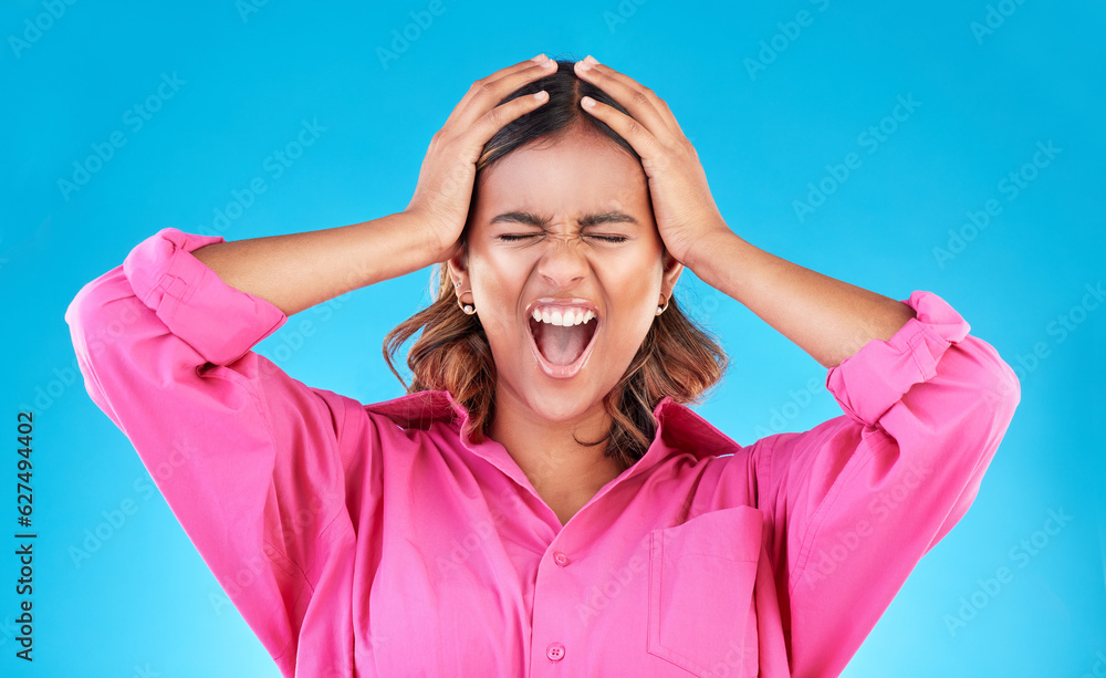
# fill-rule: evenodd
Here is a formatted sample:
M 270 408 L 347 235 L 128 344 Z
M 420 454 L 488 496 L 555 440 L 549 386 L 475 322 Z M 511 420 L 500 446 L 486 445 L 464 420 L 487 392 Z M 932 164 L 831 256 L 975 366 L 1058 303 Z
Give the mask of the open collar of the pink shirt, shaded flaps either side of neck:
M 384 415 L 400 428 L 427 429 L 430 425 L 441 421 L 463 431 L 468 424 L 469 413 L 463 405 L 453 399 L 447 390 L 421 390 L 407 396 L 366 405 L 365 409 Z M 686 405 L 664 397 L 653 410 L 657 417 L 657 432 L 646 453 L 627 469 L 626 476 L 636 474 L 659 463 L 674 453 L 690 453 L 697 460 L 708 457 L 728 455 L 741 449 L 722 431 L 706 419 L 693 413 Z M 461 435 L 465 447 L 486 456 L 488 441 L 472 442 L 471 437 Z M 502 449 L 502 446 L 494 445 Z

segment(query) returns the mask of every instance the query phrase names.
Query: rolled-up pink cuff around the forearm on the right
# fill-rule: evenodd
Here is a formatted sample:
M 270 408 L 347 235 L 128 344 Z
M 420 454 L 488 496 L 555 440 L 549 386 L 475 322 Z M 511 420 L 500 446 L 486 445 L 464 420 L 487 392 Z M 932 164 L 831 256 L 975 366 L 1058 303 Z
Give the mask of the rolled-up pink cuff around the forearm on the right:
M 875 425 L 911 386 L 936 376 L 937 362 L 971 328 L 932 292 L 915 291 L 902 303 L 917 317 L 888 341 L 872 340 L 826 376 L 826 388 L 845 414 L 860 424 Z

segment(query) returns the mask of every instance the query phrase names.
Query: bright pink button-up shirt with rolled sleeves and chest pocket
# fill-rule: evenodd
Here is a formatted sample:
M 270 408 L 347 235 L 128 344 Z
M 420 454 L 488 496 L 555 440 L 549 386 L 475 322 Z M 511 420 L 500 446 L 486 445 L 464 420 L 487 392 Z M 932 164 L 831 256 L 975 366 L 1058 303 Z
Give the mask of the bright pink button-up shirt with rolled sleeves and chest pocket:
M 166 228 L 65 312 L 93 400 L 285 676 L 836 676 L 974 499 L 1020 387 L 942 299 L 742 447 L 666 398 L 567 524 L 445 392 L 363 405 Z

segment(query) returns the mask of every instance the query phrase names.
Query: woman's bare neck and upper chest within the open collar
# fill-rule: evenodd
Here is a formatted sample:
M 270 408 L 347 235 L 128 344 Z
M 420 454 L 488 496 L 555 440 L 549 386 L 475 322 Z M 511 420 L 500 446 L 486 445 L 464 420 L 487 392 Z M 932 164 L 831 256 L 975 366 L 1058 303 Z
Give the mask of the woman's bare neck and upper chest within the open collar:
M 609 430 L 611 416 L 602 405 L 568 421 L 549 421 L 499 389 L 489 434 L 564 524 L 626 469 L 604 456 L 607 440 L 591 447 L 576 442 L 598 440 Z

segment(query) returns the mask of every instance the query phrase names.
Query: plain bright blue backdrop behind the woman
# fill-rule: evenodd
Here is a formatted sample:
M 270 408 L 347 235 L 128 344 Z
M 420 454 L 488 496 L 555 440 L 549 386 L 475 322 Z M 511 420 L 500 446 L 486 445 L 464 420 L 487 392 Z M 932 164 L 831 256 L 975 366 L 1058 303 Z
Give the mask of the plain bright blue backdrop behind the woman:
M 39 533 L 33 665 L 14 658 L 15 540 L 0 535 L 0 671 L 278 675 L 88 398 L 62 314 L 167 226 L 239 240 L 404 209 L 431 135 L 472 81 L 543 51 L 594 54 L 664 97 L 742 237 L 895 299 L 933 291 L 1016 368 L 1022 401 L 979 498 L 845 676 L 1076 677 L 1106 658 L 1106 311 L 1087 293 L 1106 282 L 1103 3 L 444 0 L 419 28 L 410 12 L 426 12 L 424 0 L 247 2 L 0 9 L 0 504 L 14 512 L 10 445 L 15 413 L 31 408 Z M 148 97 L 158 109 L 144 119 L 135 106 Z M 917 102 L 900 119 L 897 97 Z M 276 176 L 269 158 L 303 121 L 325 131 Z M 875 148 L 860 136 L 873 125 L 884 125 Z M 87 163 L 113 133 L 123 143 L 111 159 Z M 1060 150 L 1033 166 L 1039 143 Z M 851 153 L 855 167 L 836 181 L 827 165 Z M 65 190 L 74 163 L 96 171 Z M 1013 194 L 1011 173 L 1032 180 Z M 255 178 L 265 191 L 217 219 Z M 832 195 L 801 219 L 795 201 L 823 180 Z M 988 200 L 994 216 L 973 228 L 969 212 Z M 315 387 L 398 396 L 380 343 L 426 303 L 429 273 L 346 294 L 325 320 L 303 314 L 315 333 L 302 342 L 293 316 L 257 351 Z M 732 358 L 699 408 L 719 428 L 749 444 L 839 414 L 825 371 L 785 337 L 690 273 L 677 290 Z M 126 500 L 136 510 L 111 526 Z M 1015 560 L 1050 511 L 1071 520 Z M 97 526 L 111 535 L 74 562 Z M 1003 566 L 1013 580 L 987 593 L 980 580 Z M 950 630 L 972 594 L 983 606 Z

